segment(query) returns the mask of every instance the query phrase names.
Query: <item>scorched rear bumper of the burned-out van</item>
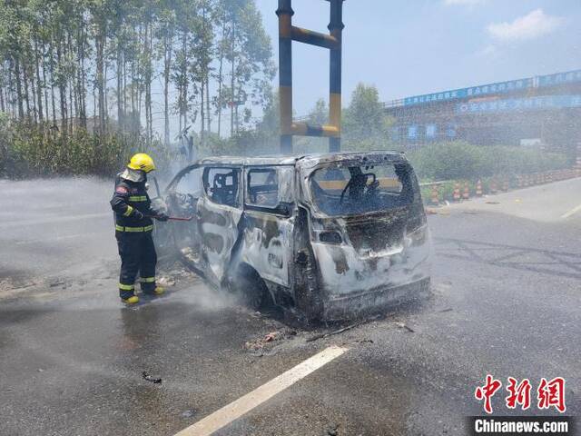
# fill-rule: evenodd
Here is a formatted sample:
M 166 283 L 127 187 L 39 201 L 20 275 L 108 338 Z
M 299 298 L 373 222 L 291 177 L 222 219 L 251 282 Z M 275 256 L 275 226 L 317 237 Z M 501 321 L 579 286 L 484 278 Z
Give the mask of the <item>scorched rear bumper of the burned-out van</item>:
M 323 319 L 325 321 L 344 320 L 376 314 L 404 302 L 425 299 L 428 295 L 429 278 L 424 278 L 404 285 L 331 297 L 324 302 Z

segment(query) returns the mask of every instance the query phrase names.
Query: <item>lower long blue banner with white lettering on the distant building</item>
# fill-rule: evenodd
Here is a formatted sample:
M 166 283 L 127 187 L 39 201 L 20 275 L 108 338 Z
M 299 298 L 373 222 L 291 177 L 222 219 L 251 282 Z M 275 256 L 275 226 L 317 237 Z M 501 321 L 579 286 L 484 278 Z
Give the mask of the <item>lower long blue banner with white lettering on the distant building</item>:
M 581 107 L 581 95 L 540 95 L 528 98 L 508 98 L 487 102 L 456 104 L 457 114 L 485 114 L 497 112 L 521 112 L 543 109 Z

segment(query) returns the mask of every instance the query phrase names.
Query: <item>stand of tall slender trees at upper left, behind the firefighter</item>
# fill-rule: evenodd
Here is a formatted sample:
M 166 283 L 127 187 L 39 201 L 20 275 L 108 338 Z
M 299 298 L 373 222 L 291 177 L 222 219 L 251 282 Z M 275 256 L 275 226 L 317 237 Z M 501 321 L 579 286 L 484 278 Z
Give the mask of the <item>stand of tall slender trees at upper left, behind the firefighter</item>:
M 149 144 L 159 103 L 165 144 L 172 113 L 203 143 L 216 114 L 222 133 L 224 109 L 231 135 L 250 126 L 268 98 L 271 52 L 254 0 L 0 0 L 0 111 L 47 134 Z

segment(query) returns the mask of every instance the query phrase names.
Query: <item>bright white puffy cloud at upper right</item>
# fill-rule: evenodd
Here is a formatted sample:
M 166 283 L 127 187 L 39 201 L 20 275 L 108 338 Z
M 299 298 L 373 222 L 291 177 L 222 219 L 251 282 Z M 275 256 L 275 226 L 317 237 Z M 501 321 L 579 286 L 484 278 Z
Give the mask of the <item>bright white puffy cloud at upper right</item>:
M 499 41 L 526 41 L 550 34 L 563 22 L 564 19 L 559 16 L 547 15 L 542 9 L 535 9 L 510 23 L 492 23 L 487 26 L 487 31 Z

